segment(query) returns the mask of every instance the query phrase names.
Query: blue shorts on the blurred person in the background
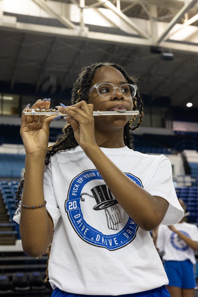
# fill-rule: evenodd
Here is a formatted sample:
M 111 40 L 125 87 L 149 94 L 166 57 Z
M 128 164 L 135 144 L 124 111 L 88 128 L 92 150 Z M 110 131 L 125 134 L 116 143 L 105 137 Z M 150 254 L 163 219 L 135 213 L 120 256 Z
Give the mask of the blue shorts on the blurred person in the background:
M 185 261 L 164 261 L 169 284 L 168 286 L 182 289 L 193 289 L 196 287 L 194 268 L 190 260 Z

